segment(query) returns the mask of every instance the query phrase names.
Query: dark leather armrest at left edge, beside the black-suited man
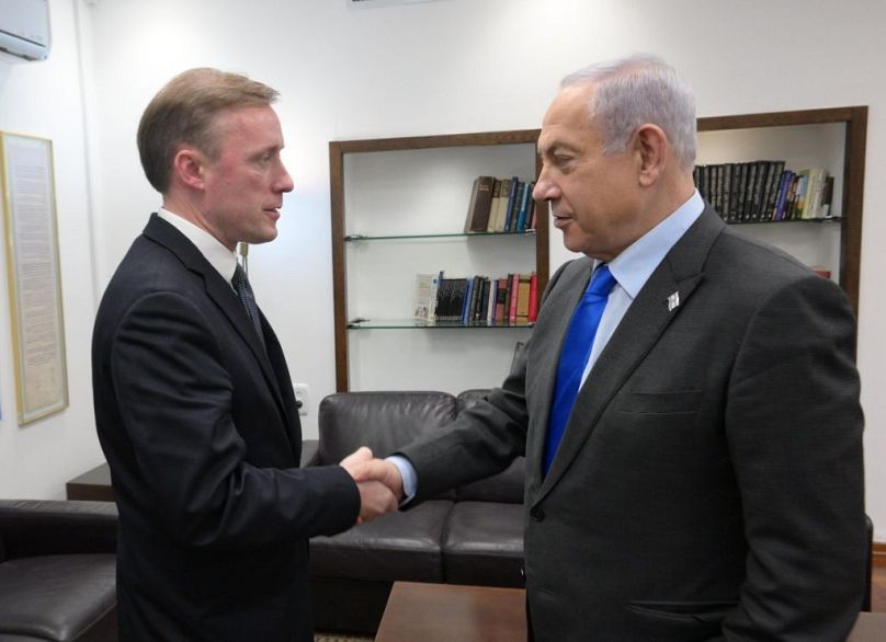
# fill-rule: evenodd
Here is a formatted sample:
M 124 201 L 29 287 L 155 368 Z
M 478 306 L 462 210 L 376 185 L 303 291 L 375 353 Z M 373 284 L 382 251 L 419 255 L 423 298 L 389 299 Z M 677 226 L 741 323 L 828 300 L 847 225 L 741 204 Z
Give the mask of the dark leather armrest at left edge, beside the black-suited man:
M 116 504 L 0 500 L 0 559 L 114 553 L 116 548 Z

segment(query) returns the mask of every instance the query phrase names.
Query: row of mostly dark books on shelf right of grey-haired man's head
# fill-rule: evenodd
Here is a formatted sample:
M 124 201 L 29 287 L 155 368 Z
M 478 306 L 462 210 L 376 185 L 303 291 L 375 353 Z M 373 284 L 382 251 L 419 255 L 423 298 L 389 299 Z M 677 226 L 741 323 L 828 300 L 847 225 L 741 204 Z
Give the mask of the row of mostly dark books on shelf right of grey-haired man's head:
M 695 165 L 693 176 L 727 222 L 830 218 L 833 176 L 821 168 L 784 165 L 781 160 Z

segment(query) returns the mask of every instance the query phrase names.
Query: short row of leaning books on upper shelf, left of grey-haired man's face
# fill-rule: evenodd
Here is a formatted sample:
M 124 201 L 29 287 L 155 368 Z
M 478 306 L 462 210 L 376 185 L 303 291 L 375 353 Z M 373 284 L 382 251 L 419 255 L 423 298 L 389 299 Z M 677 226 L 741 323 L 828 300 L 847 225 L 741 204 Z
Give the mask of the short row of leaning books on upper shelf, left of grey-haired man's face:
M 465 232 L 525 232 L 535 229 L 533 181 L 478 176 L 470 190 Z

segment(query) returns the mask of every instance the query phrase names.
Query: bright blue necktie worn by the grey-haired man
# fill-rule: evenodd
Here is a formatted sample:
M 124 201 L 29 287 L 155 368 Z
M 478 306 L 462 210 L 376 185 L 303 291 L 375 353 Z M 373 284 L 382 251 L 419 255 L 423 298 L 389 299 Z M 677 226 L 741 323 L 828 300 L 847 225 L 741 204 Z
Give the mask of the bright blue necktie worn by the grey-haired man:
M 593 273 L 591 285 L 588 286 L 584 296 L 581 297 L 572 313 L 569 331 L 566 333 L 563 352 L 560 352 L 560 363 L 557 366 L 557 385 L 554 390 L 554 403 L 550 406 L 550 422 L 545 440 L 543 460 L 545 474 L 550 469 L 554 455 L 556 455 L 566 431 L 566 422 L 569 421 L 569 414 L 576 403 L 584 366 L 588 365 L 588 358 L 591 356 L 597 326 L 600 325 L 609 294 L 614 286 L 615 277 L 610 273 L 609 266 L 599 266 Z

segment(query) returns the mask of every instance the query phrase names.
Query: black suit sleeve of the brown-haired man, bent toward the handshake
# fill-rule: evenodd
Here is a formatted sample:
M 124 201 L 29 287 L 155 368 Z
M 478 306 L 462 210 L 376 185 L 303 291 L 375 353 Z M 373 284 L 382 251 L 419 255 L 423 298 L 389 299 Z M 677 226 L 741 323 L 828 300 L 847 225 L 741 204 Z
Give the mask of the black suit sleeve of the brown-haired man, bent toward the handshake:
M 173 538 L 237 550 L 353 526 L 360 495 L 341 467 L 259 468 L 247 461 L 231 417 L 230 368 L 238 365 L 226 363 L 230 352 L 189 298 L 139 298 L 113 336 L 110 359 L 120 428 L 145 486 L 139 490 Z M 258 397 L 263 385 L 238 394 Z M 282 429 L 274 412 L 254 416 L 269 435 Z

